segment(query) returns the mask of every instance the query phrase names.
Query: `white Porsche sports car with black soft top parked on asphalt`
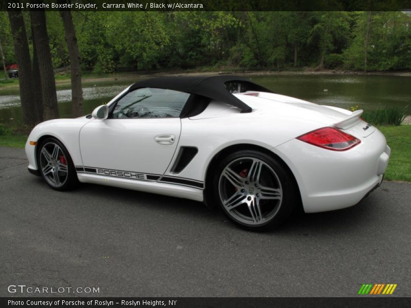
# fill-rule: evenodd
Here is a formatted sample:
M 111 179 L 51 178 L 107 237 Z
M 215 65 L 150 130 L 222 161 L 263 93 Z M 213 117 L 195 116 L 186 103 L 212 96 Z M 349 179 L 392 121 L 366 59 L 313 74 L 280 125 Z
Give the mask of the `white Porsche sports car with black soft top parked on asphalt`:
M 28 169 L 57 190 L 78 182 L 219 204 L 247 228 L 357 204 L 390 148 L 354 112 L 271 92 L 239 76 L 137 82 L 91 115 L 43 122 Z

